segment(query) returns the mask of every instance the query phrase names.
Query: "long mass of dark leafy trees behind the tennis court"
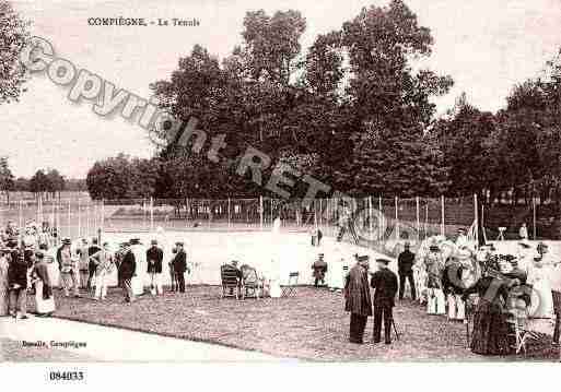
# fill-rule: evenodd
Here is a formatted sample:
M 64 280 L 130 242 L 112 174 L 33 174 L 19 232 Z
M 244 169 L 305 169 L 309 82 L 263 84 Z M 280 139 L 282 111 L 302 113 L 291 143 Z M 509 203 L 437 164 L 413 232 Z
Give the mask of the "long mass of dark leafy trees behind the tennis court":
M 561 200 L 561 68 L 513 86 L 492 114 L 460 96 L 435 118 L 432 97 L 453 85 L 419 69 L 433 37 L 400 0 L 363 9 L 303 54 L 299 11 L 248 12 L 243 44 L 222 61 L 201 46 L 151 84 L 161 108 L 209 134 L 225 135 L 224 168 L 204 152 L 165 140 L 156 124 L 152 159 L 120 155 L 87 176 L 93 198 L 269 195 L 235 174 L 250 145 L 352 195 L 461 197 L 517 203 Z M 162 142 L 163 141 L 163 142 Z M 296 181 L 294 197 L 305 188 Z M 328 194 L 319 194 L 326 197 Z

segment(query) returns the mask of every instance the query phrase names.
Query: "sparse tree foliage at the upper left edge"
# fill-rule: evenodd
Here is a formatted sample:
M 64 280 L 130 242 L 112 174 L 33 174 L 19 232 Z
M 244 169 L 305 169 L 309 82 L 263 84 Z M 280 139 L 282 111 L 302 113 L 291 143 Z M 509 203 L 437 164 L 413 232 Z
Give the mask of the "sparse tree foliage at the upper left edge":
M 8 1 L 0 0 L 0 105 L 17 100 L 25 91 L 25 69 L 19 56 L 27 37 L 27 23 Z

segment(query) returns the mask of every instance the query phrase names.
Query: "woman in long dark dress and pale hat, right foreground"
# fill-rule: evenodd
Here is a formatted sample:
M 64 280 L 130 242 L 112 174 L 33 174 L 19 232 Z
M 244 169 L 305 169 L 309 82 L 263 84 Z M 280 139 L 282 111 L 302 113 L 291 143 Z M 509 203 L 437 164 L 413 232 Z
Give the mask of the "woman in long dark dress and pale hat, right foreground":
M 511 353 L 509 342 L 509 311 L 511 290 L 525 282 L 525 276 L 513 270 L 511 262 L 499 259 L 498 274 L 487 274 L 474 287 L 464 292 L 466 300 L 477 293 L 479 300 L 474 314 L 474 334 L 471 352 L 480 355 L 507 355 Z M 521 296 L 524 293 L 521 292 Z

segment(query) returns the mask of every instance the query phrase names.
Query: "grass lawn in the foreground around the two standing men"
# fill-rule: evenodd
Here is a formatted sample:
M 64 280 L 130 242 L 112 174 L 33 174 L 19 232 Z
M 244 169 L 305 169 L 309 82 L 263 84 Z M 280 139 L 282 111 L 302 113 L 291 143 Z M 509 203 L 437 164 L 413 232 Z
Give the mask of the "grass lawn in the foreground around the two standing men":
M 348 342 L 349 314 L 343 311 L 341 294 L 299 287 L 293 298 L 237 301 L 220 299 L 220 290 L 188 286 L 186 294 L 144 296 L 132 305 L 122 304 L 116 288 L 103 302 L 63 298 L 57 290 L 55 316 L 308 360 L 559 360 L 548 336 L 539 345 L 530 344 L 526 357 L 474 355 L 467 348 L 463 323 L 428 316 L 410 301 L 395 309 L 400 341 L 390 346 L 371 344 L 370 318 L 366 344 L 354 345 Z

